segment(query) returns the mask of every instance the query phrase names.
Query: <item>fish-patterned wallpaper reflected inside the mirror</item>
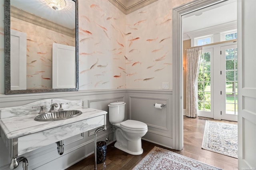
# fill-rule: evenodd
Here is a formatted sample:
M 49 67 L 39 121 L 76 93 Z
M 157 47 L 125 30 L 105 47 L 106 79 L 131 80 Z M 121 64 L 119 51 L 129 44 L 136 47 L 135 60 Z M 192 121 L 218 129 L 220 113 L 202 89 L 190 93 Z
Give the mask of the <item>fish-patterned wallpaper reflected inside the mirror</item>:
M 27 89 L 52 89 L 52 43 L 76 46 L 75 37 L 13 17 L 11 29 L 26 33 Z

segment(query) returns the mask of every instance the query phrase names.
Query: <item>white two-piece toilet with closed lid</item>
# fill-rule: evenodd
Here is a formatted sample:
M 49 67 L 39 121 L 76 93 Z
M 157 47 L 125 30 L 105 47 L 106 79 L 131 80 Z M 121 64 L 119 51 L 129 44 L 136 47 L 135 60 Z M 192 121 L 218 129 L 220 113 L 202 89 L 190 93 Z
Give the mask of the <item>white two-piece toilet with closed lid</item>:
M 125 104 L 117 101 L 108 105 L 109 122 L 116 127 L 114 146 L 128 154 L 140 155 L 143 153 L 141 138 L 148 132 L 148 126 L 140 121 L 124 121 Z

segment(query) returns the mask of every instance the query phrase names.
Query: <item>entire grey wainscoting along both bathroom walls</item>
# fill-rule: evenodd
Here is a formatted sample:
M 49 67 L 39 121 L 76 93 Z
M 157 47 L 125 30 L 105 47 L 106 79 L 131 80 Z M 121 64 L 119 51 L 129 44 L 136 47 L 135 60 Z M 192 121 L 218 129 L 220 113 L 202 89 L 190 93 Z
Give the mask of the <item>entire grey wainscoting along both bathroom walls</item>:
M 111 89 L 102 91 L 76 91 L 57 93 L 32 93 L 20 95 L 1 95 L 0 107 L 25 105 L 34 101 L 58 98 L 67 100 L 82 99 L 84 107 L 108 112 L 108 104 L 116 101 L 126 103 L 126 119 L 133 119 L 148 124 L 145 140 L 172 148 L 172 92 L 164 90 L 128 90 Z M 154 103 L 164 103 L 163 109 L 155 109 Z M 95 130 L 95 129 L 94 129 Z M 64 140 L 64 154 L 58 155 L 57 145 L 49 144 L 42 148 L 23 154 L 28 158 L 28 169 L 63 170 L 86 158 L 94 152 L 94 130 L 84 132 Z M 97 141 L 115 142 L 114 131 L 108 121 L 107 130 L 97 135 Z M 0 139 L 0 169 L 9 170 L 10 153 Z M 109 142 L 107 142 L 109 143 Z M 86 165 L 85 165 L 86 166 Z M 16 168 L 22 170 L 22 163 Z

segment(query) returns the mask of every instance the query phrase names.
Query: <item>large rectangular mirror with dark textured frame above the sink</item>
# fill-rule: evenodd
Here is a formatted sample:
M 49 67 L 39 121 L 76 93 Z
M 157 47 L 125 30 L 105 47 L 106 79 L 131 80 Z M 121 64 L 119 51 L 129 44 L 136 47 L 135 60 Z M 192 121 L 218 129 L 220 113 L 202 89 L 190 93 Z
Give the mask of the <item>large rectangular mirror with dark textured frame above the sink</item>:
M 78 1 L 63 3 L 4 1 L 5 94 L 78 91 Z

